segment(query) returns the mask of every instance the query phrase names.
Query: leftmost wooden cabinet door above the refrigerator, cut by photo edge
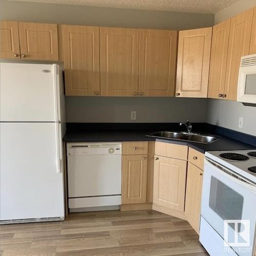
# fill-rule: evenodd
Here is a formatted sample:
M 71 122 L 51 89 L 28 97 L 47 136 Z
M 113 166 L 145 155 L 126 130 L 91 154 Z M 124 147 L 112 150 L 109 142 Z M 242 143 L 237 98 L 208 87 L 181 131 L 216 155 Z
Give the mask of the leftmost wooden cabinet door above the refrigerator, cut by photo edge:
M 17 22 L 0 22 L 0 58 L 21 58 Z

